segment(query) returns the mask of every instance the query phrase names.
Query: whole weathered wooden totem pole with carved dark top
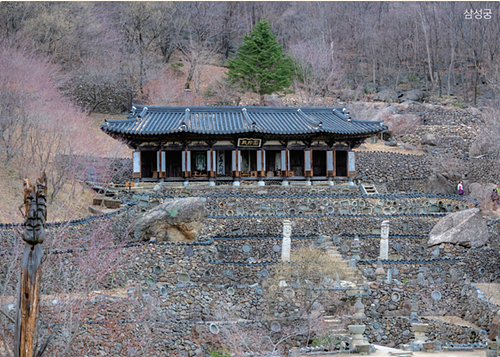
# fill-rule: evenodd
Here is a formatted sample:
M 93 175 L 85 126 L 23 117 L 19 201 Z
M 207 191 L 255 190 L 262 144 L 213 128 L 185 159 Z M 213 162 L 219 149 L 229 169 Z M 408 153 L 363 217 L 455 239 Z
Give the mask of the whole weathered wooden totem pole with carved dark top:
M 21 261 L 21 277 L 19 279 L 19 298 L 16 310 L 14 330 L 15 357 L 33 357 L 36 314 L 38 310 L 41 282 L 41 262 L 43 250 L 41 243 L 45 238 L 47 221 L 47 179 L 45 172 L 36 184 L 24 184 L 24 231 L 26 242 Z

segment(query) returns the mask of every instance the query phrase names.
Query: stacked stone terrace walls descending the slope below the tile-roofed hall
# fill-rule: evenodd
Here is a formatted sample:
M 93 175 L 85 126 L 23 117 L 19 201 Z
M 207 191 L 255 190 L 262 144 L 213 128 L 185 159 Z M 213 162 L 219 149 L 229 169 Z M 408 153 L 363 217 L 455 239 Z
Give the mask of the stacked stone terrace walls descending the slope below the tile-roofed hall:
M 482 300 L 471 285 L 488 282 L 498 271 L 497 235 L 493 235 L 489 245 L 479 249 L 426 245 L 427 235 L 443 215 L 474 207 L 474 202 L 457 196 L 417 192 L 367 196 L 358 187 L 349 185 L 286 190 L 282 187 L 167 189 L 159 194 L 161 198 L 154 200 L 185 195 L 201 196 L 205 201 L 209 218 L 201 237 L 193 243 L 151 241 L 126 248 L 135 250 L 136 258 L 102 286 L 110 289 L 126 282 L 137 283 L 142 293 L 160 301 L 160 308 L 176 326 L 174 338 L 182 341 L 190 341 L 192 330 L 187 323 L 197 324 L 197 328 L 209 333 L 209 325 L 203 324 L 216 321 L 216 308 L 224 308 L 233 318 L 248 325 L 269 327 L 274 320 L 282 325 L 294 323 L 294 304 L 308 299 L 307 289 L 301 282 L 288 282 L 287 288 L 293 293 L 288 291 L 287 295 L 285 288 L 268 283 L 281 257 L 284 219 L 292 221 L 292 253 L 311 245 L 334 248 L 347 263 L 353 256 L 352 243 L 356 237 L 359 239 L 355 283 L 369 284 L 369 294 L 363 297 L 363 303 L 370 342 L 398 345 L 413 338 L 405 316 L 409 315 L 414 293 L 419 296 L 421 316 L 456 315 L 480 330 L 489 328 L 498 310 L 498 306 Z M 108 218 L 110 233 L 117 240 L 127 230 L 135 212 L 136 207 Z M 387 275 L 375 282 L 382 221 L 388 221 L 390 227 L 389 259 L 382 261 Z M 69 227 L 70 234 L 77 236 L 97 224 L 83 223 Z M 490 228 L 495 233 L 498 222 L 492 222 Z M 56 230 L 49 230 L 49 236 Z M 15 239 L 12 229 L 3 229 L 0 234 L 2 239 Z M 73 264 L 70 253 L 65 259 L 68 265 Z M 76 274 L 76 270 L 73 272 Z M 273 296 L 281 294 L 281 297 L 270 300 L 269 289 Z M 329 315 L 348 311 L 354 300 L 346 295 L 346 289 L 332 288 L 319 300 L 317 308 Z M 372 304 L 373 309 L 369 308 Z M 432 336 L 443 343 L 466 343 L 474 330 L 453 326 L 456 333 L 452 337 L 444 333 L 449 328 L 439 327 L 442 324 L 438 322 L 431 324 L 435 326 Z M 484 342 L 484 333 L 474 331 L 477 336 L 474 341 Z M 165 351 L 181 349 L 194 355 L 193 348 L 185 349 L 188 342 L 167 345 Z

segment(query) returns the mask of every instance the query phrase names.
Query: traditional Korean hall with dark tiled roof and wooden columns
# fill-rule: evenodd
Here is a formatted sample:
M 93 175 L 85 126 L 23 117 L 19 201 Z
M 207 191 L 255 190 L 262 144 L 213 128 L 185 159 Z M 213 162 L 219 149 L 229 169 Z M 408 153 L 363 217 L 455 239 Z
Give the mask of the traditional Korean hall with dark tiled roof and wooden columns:
M 140 181 L 304 181 L 355 177 L 352 149 L 387 127 L 344 107 L 134 105 L 101 130 L 133 153 Z

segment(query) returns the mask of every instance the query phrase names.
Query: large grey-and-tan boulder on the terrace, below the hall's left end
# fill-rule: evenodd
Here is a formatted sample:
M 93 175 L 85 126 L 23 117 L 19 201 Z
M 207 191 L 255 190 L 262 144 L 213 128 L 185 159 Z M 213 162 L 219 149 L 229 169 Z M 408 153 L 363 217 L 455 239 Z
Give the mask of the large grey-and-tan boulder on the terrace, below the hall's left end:
M 208 216 L 201 198 L 183 198 L 165 202 L 134 224 L 134 235 L 143 240 L 192 242 L 199 234 Z

